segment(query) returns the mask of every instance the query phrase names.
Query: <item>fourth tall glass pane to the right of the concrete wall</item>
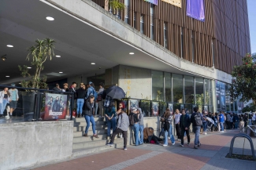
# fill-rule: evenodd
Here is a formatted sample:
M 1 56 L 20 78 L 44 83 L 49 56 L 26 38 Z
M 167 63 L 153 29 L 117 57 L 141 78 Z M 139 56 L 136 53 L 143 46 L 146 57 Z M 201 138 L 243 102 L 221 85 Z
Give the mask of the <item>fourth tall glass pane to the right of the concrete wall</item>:
M 184 76 L 185 87 L 185 103 L 194 103 L 194 77 Z

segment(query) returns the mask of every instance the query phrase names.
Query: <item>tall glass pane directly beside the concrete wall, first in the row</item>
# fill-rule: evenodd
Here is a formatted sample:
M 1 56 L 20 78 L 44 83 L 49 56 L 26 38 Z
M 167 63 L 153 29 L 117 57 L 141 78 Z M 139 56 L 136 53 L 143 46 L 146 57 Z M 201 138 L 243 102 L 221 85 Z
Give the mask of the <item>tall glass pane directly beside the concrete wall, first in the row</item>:
M 164 74 L 162 71 L 152 71 L 152 99 L 164 100 Z

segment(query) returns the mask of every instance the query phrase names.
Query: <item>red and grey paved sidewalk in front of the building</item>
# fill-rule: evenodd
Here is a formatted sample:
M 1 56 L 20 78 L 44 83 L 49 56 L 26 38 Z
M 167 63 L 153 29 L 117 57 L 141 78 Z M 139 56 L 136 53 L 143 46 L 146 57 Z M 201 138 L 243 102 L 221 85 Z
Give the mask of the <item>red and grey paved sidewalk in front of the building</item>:
M 179 146 L 176 141 L 174 146 L 157 146 L 143 144 L 142 146 L 128 146 L 128 150 L 122 148 L 102 152 L 99 154 L 79 157 L 72 160 L 55 163 L 53 165 L 37 165 L 28 169 L 36 170 L 65 170 L 65 169 L 247 169 L 255 170 L 256 161 L 243 161 L 226 158 L 231 139 L 238 133 L 237 130 L 230 130 L 224 133 L 210 132 L 206 136 L 200 136 L 202 146 L 195 150 L 193 143 L 190 146 Z M 185 139 L 186 141 L 186 139 Z M 191 142 L 194 135 L 191 135 Z M 256 139 L 253 139 L 256 146 Z M 250 145 L 247 139 L 236 139 L 234 152 L 236 154 L 250 154 Z

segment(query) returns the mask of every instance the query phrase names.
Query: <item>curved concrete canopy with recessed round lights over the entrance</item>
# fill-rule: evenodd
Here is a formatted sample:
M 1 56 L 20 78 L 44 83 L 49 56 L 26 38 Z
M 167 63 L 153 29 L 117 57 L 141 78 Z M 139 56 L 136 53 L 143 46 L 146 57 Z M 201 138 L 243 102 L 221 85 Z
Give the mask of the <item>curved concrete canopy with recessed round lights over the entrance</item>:
M 0 6 L 0 84 L 20 81 L 17 65 L 37 38 L 53 38 L 55 54 L 42 74 L 62 71 L 67 78 L 101 74 L 118 64 L 231 82 L 231 75 L 180 59 L 144 34 L 88 0 L 3 0 Z M 46 20 L 54 17 L 54 21 Z M 7 48 L 7 44 L 14 45 Z M 129 55 L 134 52 L 134 55 Z M 91 63 L 96 63 L 91 65 Z M 3 64 L 4 63 L 4 64 Z M 101 67 L 101 70 L 98 68 Z M 9 74 L 10 78 L 5 78 Z

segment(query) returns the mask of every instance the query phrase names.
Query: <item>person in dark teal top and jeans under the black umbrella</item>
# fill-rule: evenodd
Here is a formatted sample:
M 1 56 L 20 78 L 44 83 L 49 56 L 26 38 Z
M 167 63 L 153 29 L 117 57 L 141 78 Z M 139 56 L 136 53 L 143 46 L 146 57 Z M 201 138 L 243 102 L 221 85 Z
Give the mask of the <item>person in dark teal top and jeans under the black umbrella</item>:
M 114 105 L 115 103 L 111 102 L 109 104 L 109 107 L 106 107 L 105 109 L 106 123 L 108 125 L 107 136 L 106 136 L 107 139 L 110 139 L 110 129 L 112 128 L 112 130 L 114 131 L 116 130 L 116 126 L 117 126 L 116 107 Z M 119 110 L 118 113 L 120 112 L 121 110 Z

